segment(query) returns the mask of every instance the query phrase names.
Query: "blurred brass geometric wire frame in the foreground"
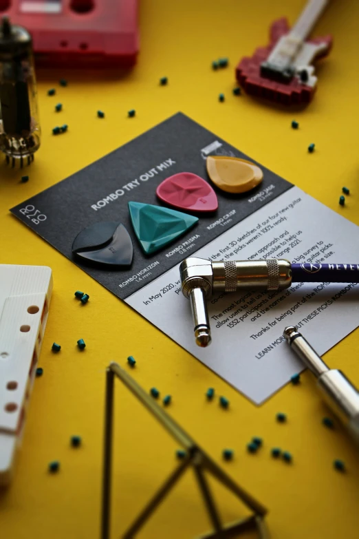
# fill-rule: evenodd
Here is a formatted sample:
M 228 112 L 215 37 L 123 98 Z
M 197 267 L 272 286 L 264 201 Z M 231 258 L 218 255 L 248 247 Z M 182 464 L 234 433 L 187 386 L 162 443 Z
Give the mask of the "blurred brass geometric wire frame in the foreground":
M 252 498 L 243 490 L 230 476 L 228 476 L 204 450 L 195 443 L 191 436 L 177 425 L 171 417 L 150 397 L 133 378 L 122 369 L 118 363 L 110 363 L 106 373 L 106 403 L 105 403 L 105 446 L 103 457 L 103 479 L 102 479 L 102 522 L 101 539 L 110 538 L 110 506 L 111 506 L 111 463 L 112 463 L 112 438 L 113 438 L 113 390 L 114 379 L 118 377 L 124 385 L 146 406 L 173 438 L 186 450 L 186 457 L 175 468 L 174 472 L 168 476 L 162 487 L 156 492 L 149 503 L 142 509 L 133 524 L 124 532 L 122 539 L 132 539 L 140 531 L 146 520 L 151 516 L 168 492 L 175 486 L 179 478 L 182 477 L 188 467 L 193 467 L 197 478 L 199 490 L 204 499 L 204 505 L 208 511 L 208 516 L 213 524 L 213 531 L 205 533 L 198 539 L 227 539 L 234 537 L 237 533 L 250 528 L 257 528 L 259 538 L 268 539 L 268 531 L 263 517 L 267 510 L 257 500 Z M 252 516 L 242 518 L 230 524 L 223 524 L 219 517 L 215 501 L 208 487 L 204 472 L 212 474 L 219 482 L 237 496 L 243 503 L 252 509 Z

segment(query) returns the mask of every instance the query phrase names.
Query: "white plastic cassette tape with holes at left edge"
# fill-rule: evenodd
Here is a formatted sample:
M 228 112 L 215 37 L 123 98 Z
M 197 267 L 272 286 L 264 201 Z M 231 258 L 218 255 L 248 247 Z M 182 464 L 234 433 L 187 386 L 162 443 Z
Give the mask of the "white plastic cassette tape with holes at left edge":
M 0 265 L 0 485 L 12 477 L 51 293 L 51 268 Z

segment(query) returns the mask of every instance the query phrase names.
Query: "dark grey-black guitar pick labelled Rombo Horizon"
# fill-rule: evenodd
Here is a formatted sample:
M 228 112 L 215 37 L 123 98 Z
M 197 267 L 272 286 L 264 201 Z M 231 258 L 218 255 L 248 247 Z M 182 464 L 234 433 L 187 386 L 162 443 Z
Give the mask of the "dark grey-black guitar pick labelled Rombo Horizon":
M 104 266 L 129 266 L 133 246 L 122 223 L 99 222 L 90 224 L 75 237 L 72 253 Z

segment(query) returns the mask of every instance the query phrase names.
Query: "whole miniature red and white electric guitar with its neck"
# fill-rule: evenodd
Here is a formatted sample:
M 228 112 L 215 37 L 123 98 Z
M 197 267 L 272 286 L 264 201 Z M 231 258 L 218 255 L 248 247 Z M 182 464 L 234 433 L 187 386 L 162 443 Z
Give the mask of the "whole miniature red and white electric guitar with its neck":
M 237 65 L 237 81 L 248 94 L 285 105 L 311 101 L 317 83 L 312 62 L 328 54 L 333 38 L 306 38 L 327 3 L 309 0 L 292 30 L 285 18 L 272 23 L 270 44 Z

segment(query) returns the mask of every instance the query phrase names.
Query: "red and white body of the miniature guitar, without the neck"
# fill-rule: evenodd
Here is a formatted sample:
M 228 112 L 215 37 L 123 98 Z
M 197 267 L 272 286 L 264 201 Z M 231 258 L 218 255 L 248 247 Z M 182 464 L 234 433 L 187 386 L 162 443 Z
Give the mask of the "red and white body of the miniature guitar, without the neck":
M 290 26 L 282 17 L 270 27 L 270 43 L 259 47 L 252 56 L 245 56 L 236 68 L 236 78 L 243 89 L 254 96 L 267 98 L 284 105 L 309 103 L 316 90 L 317 78 L 314 76 L 312 62 L 326 56 L 333 43 L 332 36 L 316 37 L 295 43 L 288 35 Z M 277 47 L 279 54 L 292 55 L 293 43 L 297 46 L 290 70 L 272 69 L 268 62 L 270 54 Z M 285 72 L 287 71 L 287 72 Z

